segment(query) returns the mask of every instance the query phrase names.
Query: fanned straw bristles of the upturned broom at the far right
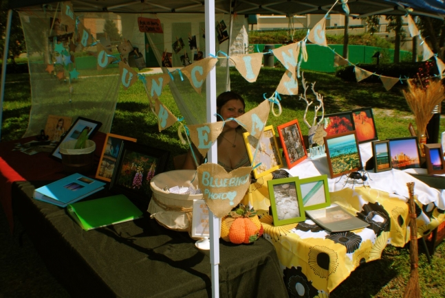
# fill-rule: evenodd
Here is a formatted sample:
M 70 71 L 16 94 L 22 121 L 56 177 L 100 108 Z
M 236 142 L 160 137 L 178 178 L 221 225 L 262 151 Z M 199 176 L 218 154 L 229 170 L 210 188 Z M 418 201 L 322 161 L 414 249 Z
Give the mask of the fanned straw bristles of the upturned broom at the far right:
M 417 134 L 424 135 L 426 125 L 433 117 L 433 109 L 444 100 L 444 86 L 442 81 L 431 81 L 424 89 L 417 87 L 412 80 L 408 80 L 408 90 L 403 91 L 403 95 L 408 102 L 409 108 L 414 114 Z

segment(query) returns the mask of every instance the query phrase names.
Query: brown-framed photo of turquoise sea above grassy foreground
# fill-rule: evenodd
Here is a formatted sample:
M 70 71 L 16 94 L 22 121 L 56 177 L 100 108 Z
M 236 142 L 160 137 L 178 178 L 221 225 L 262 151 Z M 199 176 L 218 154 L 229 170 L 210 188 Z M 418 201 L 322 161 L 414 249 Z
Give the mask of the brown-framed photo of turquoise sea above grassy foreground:
M 356 131 L 324 137 L 331 178 L 362 170 Z

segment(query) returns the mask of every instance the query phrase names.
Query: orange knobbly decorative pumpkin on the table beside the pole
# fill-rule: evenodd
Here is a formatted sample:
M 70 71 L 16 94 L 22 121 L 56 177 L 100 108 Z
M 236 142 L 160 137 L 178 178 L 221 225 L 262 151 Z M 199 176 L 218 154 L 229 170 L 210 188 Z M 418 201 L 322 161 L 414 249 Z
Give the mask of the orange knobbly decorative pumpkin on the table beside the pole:
M 239 205 L 221 220 L 221 238 L 235 244 L 254 242 L 263 234 L 263 225 L 257 212 L 248 206 Z

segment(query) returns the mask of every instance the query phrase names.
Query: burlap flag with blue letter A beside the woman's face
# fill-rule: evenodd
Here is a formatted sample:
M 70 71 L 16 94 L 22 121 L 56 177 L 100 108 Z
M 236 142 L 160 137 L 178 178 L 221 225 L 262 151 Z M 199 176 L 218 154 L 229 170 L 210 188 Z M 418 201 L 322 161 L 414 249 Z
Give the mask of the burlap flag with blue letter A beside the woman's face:
M 269 101 L 264 100 L 256 108 L 252 108 L 246 114 L 237 117 L 237 120 L 243 124 L 250 135 L 258 139 L 263 132 L 265 122 L 268 121 L 269 111 Z

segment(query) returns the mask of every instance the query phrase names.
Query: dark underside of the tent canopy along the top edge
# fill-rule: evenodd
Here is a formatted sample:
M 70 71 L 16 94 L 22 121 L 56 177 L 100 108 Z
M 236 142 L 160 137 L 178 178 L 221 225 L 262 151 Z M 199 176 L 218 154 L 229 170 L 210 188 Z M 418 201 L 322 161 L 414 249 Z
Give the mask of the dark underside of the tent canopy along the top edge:
M 46 10 L 56 8 L 54 0 L 9 0 L 9 8 L 20 9 L 34 6 Z M 230 11 L 232 3 L 232 11 Z M 215 11 L 236 14 L 326 14 L 334 0 L 215 0 Z M 52 5 L 51 5 L 52 4 Z M 72 0 L 76 12 L 116 12 L 116 13 L 204 13 L 204 1 L 198 0 Z M 411 14 L 433 16 L 444 19 L 445 4 L 437 0 L 349 0 L 351 16 L 362 18 L 372 14 L 404 15 L 404 8 L 411 8 Z M 332 13 L 344 14 L 341 1 Z

